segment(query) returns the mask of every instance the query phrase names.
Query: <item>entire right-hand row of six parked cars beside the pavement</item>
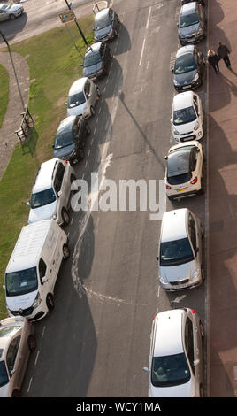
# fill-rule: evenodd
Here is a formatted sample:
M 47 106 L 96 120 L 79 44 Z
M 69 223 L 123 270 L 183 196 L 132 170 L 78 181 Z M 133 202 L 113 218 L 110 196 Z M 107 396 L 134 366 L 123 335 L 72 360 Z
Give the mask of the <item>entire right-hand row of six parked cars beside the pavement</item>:
M 206 35 L 203 1 L 182 0 L 178 23 L 182 47 L 175 58 L 173 85 L 180 94 L 172 102 L 172 138 L 165 189 L 170 200 L 203 189 L 203 105 L 193 89 L 203 83 L 204 57 L 194 43 Z M 201 5 L 202 4 L 202 5 Z M 183 46 L 186 45 L 186 46 Z M 158 247 L 159 283 L 167 291 L 198 287 L 204 280 L 203 227 L 194 212 L 165 212 Z M 149 397 L 203 397 L 203 324 L 193 309 L 159 312 L 150 335 Z

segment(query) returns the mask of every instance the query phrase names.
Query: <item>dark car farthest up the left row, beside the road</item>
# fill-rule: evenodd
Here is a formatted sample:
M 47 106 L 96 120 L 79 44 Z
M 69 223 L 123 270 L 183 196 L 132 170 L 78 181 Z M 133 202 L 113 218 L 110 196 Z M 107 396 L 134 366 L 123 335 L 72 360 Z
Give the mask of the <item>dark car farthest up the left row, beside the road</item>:
M 96 42 L 111 41 L 118 36 L 119 17 L 111 7 L 96 13 L 94 37 Z

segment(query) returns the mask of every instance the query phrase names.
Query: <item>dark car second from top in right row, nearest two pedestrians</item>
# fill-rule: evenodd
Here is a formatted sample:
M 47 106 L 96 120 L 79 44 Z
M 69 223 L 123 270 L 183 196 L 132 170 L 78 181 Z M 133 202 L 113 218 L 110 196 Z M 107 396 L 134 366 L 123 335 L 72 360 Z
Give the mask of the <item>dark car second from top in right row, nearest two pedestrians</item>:
M 172 69 L 174 88 L 180 92 L 202 85 L 204 65 L 203 52 L 195 45 L 180 48 Z

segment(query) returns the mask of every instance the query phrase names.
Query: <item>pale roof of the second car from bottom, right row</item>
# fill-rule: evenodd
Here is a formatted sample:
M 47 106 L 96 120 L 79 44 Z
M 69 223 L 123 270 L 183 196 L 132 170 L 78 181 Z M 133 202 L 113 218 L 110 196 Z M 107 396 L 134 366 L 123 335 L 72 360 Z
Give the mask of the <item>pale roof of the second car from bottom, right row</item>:
M 161 243 L 187 237 L 187 208 L 164 212 L 161 225 Z

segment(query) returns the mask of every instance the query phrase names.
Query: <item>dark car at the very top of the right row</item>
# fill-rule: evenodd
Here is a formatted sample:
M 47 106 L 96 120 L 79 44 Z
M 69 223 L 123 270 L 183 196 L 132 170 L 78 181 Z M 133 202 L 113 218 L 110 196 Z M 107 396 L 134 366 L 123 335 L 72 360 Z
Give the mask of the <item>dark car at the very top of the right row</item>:
M 182 6 L 178 23 L 181 45 L 200 42 L 206 36 L 205 12 L 197 2 Z

